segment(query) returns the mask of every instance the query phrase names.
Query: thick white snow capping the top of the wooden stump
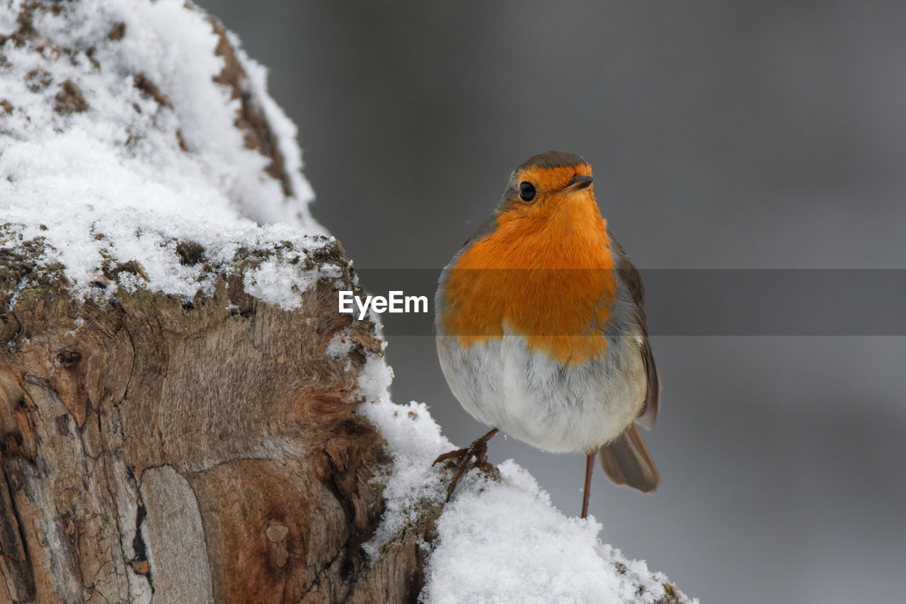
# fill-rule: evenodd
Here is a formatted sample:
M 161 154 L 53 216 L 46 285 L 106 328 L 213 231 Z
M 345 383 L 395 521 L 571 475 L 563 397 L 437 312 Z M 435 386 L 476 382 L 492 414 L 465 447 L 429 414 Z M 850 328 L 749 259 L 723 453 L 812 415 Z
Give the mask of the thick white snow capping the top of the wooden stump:
M 0 4 L 0 34 L 22 21 L 34 28 L 0 50 L 0 216 L 21 235 L 0 234 L 4 246 L 43 239 L 43 264 L 61 263 L 82 297 L 129 261 L 141 270 L 120 271 L 120 287 L 209 294 L 220 268 L 257 250 L 264 259 L 246 271 L 247 291 L 297 307 L 299 292 L 329 275 L 279 252 L 304 256 L 330 239 L 309 214 L 295 126 L 266 93 L 265 69 L 236 47 L 244 93 L 271 124 L 293 195 L 234 125 L 240 100 L 213 80 L 225 61 L 206 15 L 182 0 L 54 5 Z M 69 94 L 65 105 L 68 83 L 83 102 Z M 198 243 L 203 261 L 181 261 L 179 241 Z

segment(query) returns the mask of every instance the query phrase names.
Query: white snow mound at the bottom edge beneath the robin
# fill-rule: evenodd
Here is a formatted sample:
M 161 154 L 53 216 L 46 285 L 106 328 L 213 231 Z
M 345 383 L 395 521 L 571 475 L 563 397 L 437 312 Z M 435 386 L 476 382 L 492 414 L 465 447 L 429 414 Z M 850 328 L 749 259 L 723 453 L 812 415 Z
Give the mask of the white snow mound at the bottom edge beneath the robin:
M 601 524 L 561 514 L 512 460 L 498 469 L 501 482 L 474 484 L 440 516 L 425 601 L 653 602 L 664 596 L 666 577 L 603 545 Z

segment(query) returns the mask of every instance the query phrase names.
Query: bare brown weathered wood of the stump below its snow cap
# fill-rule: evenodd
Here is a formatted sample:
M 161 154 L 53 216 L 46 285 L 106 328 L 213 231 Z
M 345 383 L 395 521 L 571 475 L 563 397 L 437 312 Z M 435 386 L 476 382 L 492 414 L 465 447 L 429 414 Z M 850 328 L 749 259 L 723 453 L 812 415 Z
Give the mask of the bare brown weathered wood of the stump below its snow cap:
M 61 268 L 35 268 L 40 250 L 0 258 L 0 296 L 17 292 L 0 317 L 0 600 L 418 595 L 416 541 L 439 510 L 371 568 L 360 547 L 390 460 L 352 413 L 381 343 L 337 312 L 335 289 L 356 288 L 348 272 L 291 311 L 243 291 L 261 257 L 193 303 L 123 289 L 80 301 Z M 338 244 L 320 258 L 348 266 Z M 324 354 L 341 330 L 349 355 Z

